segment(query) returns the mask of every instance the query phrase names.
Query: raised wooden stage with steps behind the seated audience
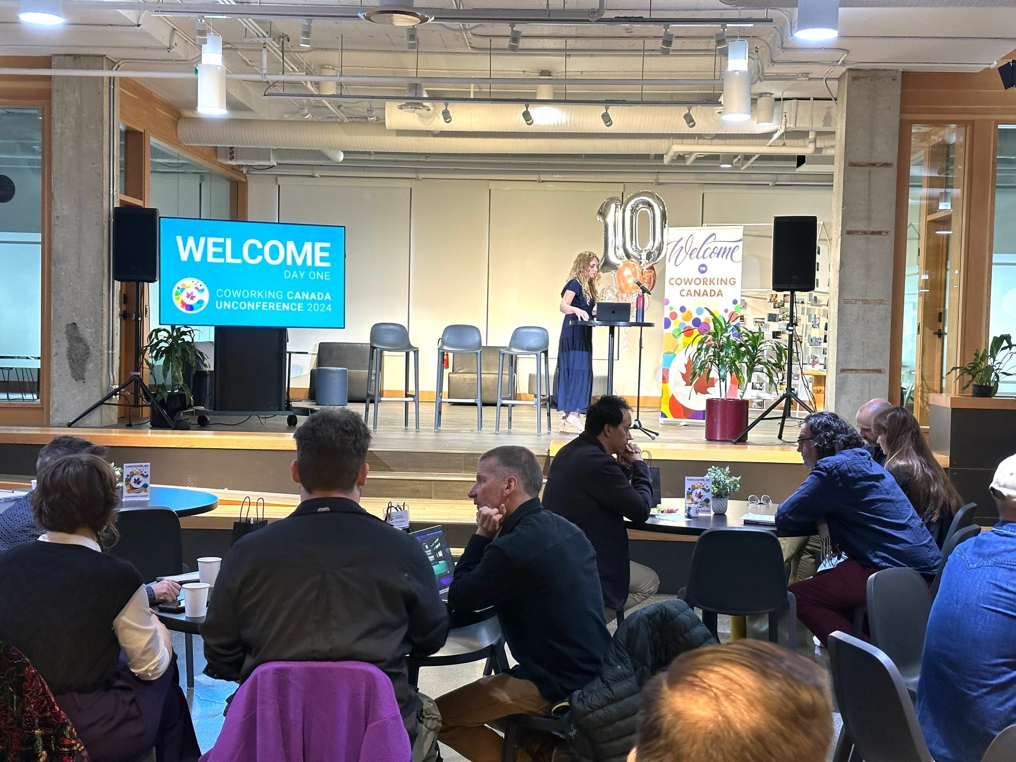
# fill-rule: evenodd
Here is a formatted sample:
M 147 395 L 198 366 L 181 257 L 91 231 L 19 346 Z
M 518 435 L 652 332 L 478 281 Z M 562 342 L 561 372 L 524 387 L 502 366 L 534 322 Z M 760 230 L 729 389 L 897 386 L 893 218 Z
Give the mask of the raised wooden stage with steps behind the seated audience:
M 519 405 L 512 431 L 507 431 L 502 414 L 502 430 L 495 433 L 494 410 L 485 408 L 484 431 L 477 432 L 474 408 L 447 405 L 443 427 L 435 432 L 433 403 L 424 402 L 418 432 L 403 428 L 401 405 L 382 404 L 368 454 L 371 475 L 364 491 L 364 507 L 382 515 L 389 500 L 405 502 L 414 528 L 443 524 L 453 548 L 464 546 L 474 526 L 475 508 L 466 493 L 480 455 L 499 445 L 521 445 L 536 454 L 546 473 L 554 454 L 575 436 L 546 431 L 537 436 L 534 419 L 532 409 Z M 786 443 L 776 439 L 776 424 L 766 422 L 752 432 L 751 443 L 729 445 L 705 442 L 701 424 L 655 426 L 648 423 L 650 420 L 655 419 L 643 415 L 649 428 L 660 430 L 659 439 L 650 442 L 636 432 L 635 441 L 659 466 L 663 497 L 681 497 L 686 475 L 701 475 L 714 464 L 729 465 L 733 473 L 742 477 L 742 499 L 766 494 L 779 502 L 806 475 L 793 443 L 795 422 L 784 433 Z M 262 422 L 252 418 L 242 426 L 229 426 L 235 423 L 236 419 L 213 419 L 207 429 L 195 427 L 185 432 L 147 427 L 0 427 L 0 481 L 27 482 L 36 472 L 40 448 L 56 436 L 73 433 L 108 447 L 109 459 L 115 463 L 150 462 L 154 484 L 200 488 L 217 495 L 218 508 L 186 517 L 181 525 L 185 558 L 220 556 L 229 549 L 229 530 L 244 497 L 263 497 L 269 520 L 289 515 L 299 503 L 297 485 L 290 477 L 290 463 L 296 456 L 294 430 L 285 426 L 285 419 Z M 690 557 L 692 544 L 687 541 L 693 538 L 645 535 L 630 532 L 633 556 L 643 563 L 661 553 L 673 562 L 679 545 L 684 546 L 680 555 Z M 673 584 L 679 582 L 680 577 L 673 580 Z M 664 587 L 669 589 L 671 584 Z

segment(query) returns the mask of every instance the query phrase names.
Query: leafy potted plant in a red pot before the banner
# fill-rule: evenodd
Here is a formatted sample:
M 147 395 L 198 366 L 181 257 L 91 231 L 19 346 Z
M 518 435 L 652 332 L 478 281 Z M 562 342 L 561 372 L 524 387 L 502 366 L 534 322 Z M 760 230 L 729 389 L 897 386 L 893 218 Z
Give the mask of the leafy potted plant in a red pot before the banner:
M 692 375 L 714 375 L 719 396 L 705 401 L 705 438 L 710 442 L 733 442 L 748 428 L 749 401 L 745 399 L 748 382 L 763 373 L 775 384 L 783 372 L 786 347 L 762 330 L 752 330 L 735 316 L 732 319 L 712 310 L 709 329 L 692 339 Z M 737 396 L 729 397 L 737 382 Z M 747 437 L 738 439 L 743 442 Z

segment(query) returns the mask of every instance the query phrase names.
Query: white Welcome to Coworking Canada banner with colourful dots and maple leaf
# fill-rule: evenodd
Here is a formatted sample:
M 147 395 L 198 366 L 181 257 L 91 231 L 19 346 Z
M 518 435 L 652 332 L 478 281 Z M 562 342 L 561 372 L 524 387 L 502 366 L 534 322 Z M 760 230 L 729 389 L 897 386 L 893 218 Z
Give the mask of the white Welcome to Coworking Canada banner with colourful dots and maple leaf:
M 663 418 L 702 420 L 705 400 L 719 396 L 711 376 L 693 378 L 689 347 L 709 330 L 708 310 L 728 320 L 744 313 L 741 260 L 744 228 L 668 228 L 663 290 Z M 732 380 L 729 394 L 737 381 Z

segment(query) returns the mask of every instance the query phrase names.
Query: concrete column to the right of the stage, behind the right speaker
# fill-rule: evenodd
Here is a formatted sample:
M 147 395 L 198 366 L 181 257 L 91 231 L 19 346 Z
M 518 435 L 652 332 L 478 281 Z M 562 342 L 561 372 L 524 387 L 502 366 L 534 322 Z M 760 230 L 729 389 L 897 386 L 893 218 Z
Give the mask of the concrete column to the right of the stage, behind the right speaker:
M 826 407 L 851 423 L 889 395 L 899 80 L 851 69 L 837 92 Z

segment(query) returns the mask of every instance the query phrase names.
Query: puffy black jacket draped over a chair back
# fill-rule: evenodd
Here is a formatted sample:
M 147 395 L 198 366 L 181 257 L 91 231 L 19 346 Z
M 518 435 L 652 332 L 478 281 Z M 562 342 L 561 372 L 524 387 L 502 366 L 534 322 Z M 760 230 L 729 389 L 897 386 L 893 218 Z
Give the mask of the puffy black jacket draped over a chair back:
M 684 600 L 647 606 L 622 622 L 599 677 L 571 695 L 572 750 L 583 760 L 624 762 L 635 746 L 642 686 L 685 651 L 715 642 Z

